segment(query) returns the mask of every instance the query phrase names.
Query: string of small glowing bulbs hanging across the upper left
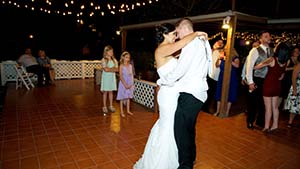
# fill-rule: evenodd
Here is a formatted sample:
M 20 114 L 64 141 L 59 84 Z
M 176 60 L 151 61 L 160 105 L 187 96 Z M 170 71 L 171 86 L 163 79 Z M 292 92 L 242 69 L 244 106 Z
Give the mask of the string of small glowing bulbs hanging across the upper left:
M 32 11 L 41 11 L 48 14 L 58 14 L 62 16 L 76 15 L 81 18 L 83 15 L 115 15 L 125 13 L 139 7 L 151 5 L 159 0 L 138 0 L 136 2 L 124 3 L 98 3 L 99 1 L 84 0 L 2 0 L 3 6 L 14 6 L 16 8 L 25 8 Z M 55 7 L 54 7 L 55 6 Z M 54 9 L 56 8 L 56 9 Z M 83 22 L 83 21 L 82 21 Z

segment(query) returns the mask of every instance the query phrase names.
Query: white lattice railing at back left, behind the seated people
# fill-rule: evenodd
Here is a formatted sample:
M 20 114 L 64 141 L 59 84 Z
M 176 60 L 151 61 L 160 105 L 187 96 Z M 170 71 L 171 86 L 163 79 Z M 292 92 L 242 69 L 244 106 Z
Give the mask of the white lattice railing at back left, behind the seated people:
M 15 81 L 15 61 L 1 62 L 1 83 Z M 55 70 L 55 79 L 94 77 L 94 69 L 101 67 L 101 61 L 57 61 L 51 60 Z

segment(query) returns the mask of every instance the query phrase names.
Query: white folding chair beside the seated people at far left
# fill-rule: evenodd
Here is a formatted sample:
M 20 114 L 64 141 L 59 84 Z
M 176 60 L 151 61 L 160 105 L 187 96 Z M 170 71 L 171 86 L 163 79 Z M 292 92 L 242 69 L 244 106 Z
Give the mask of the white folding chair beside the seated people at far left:
M 34 73 L 27 73 L 26 69 L 18 64 L 15 65 L 15 69 L 17 71 L 16 90 L 19 87 L 22 87 L 23 84 L 27 90 L 30 90 L 30 87 L 34 88 L 31 80 L 31 78 L 34 76 Z

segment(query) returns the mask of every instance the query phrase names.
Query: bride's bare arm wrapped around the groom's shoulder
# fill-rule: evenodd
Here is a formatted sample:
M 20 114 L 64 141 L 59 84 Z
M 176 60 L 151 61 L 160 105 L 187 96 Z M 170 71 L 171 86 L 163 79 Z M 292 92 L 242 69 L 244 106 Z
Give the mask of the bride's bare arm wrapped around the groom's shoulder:
M 165 57 L 172 55 L 174 52 L 182 49 L 184 46 L 186 46 L 189 42 L 191 42 L 193 39 L 195 39 L 197 36 L 205 36 L 207 37 L 207 34 L 205 32 L 193 32 L 184 38 L 180 39 L 179 41 L 175 43 L 170 43 L 170 44 L 164 44 L 159 46 L 155 50 L 155 56 L 156 57 Z

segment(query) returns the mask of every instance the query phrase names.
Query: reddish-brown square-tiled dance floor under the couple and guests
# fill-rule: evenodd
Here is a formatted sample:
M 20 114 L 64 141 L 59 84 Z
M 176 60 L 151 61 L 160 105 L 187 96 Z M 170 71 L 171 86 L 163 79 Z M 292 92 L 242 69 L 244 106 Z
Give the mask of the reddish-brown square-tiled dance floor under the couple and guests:
M 103 116 L 100 108 L 92 79 L 31 91 L 9 84 L 0 115 L 2 169 L 131 169 L 158 115 L 138 104 L 125 118 L 118 110 Z M 264 134 L 246 128 L 244 113 L 235 114 L 200 113 L 195 169 L 300 168 L 300 129 L 286 128 L 287 115 L 277 132 Z

